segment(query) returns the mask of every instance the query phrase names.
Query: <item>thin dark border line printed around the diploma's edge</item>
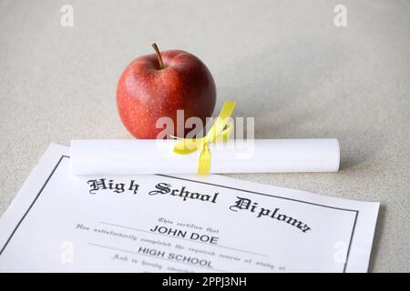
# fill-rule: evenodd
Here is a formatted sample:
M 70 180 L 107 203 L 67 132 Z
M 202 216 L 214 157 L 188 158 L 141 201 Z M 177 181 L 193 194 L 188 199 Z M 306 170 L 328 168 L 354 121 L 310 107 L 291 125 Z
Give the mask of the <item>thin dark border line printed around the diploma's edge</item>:
M 5 247 L 10 243 L 10 240 L 13 238 L 13 236 L 15 235 L 15 232 L 17 231 L 18 227 L 22 224 L 23 220 L 26 218 L 28 212 L 33 208 L 33 206 L 35 205 L 38 197 L 41 195 L 41 193 L 43 192 L 43 190 L 45 189 L 48 181 L 50 181 L 51 176 L 53 176 L 53 174 L 56 172 L 57 167 L 61 164 L 61 161 L 63 160 L 63 158 L 70 158 L 69 156 L 60 156 L 60 158 L 58 159 L 56 166 L 54 166 L 53 170 L 51 171 L 50 175 L 46 178 L 46 182 L 44 183 L 44 185 L 40 188 L 40 191 L 38 191 L 36 197 L 34 198 L 33 202 L 30 204 L 30 206 L 28 206 L 26 213 L 21 217 L 21 219 L 18 221 L 17 225 L 15 226 L 15 229 L 12 231 L 12 233 L 10 234 L 10 236 L 8 237 L 8 239 L 5 242 L 5 246 L 2 247 L 2 249 L 0 250 L 0 256 L 3 254 L 3 252 L 5 251 Z M 241 189 L 241 188 L 235 188 L 235 187 L 230 187 L 230 186 L 223 186 L 223 185 L 218 185 L 218 184 L 212 184 L 212 183 L 207 183 L 207 182 L 202 182 L 202 181 L 196 181 L 196 180 L 190 180 L 190 179 L 186 179 L 186 178 L 181 178 L 178 176 L 168 176 L 168 175 L 162 175 L 162 174 L 157 174 L 157 176 L 165 176 L 165 177 L 169 177 L 172 179 L 178 179 L 178 180 L 184 180 L 184 181 L 189 181 L 189 182 L 193 182 L 193 183 L 200 183 L 200 184 L 205 184 L 205 185 L 210 185 L 210 186 L 218 186 L 218 187 L 222 187 L 222 188 L 227 188 L 227 189 L 231 189 L 231 190 L 236 190 L 236 191 L 242 191 L 242 192 L 247 192 L 247 193 L 251 193 L 251 194 L 256 194 L 256 195 L 260 195 L 260 196 L 269 196 L 269 197 L 274 197 L 274 198 L 279 198 L 279 199 L 285 199 L 285 200 L 291 200 L 294 202 L 299 202 L 299 203 L 304 203 L 304 204 L 309 204 L 309 205 L 313 205 L 313 206 L 321 206 L 321 207 L 326 207 L 326 208 L 332 208 L 335 210 L 343 210 L 343 211 L 350 211 L 350 212 L 354 212 L 354 226 L 352 228 L 352 235 L 350 236 L 350 241 L 349 241 L 349 247 L 347 249 L 347 254 L 346 254 L 346 261 L 344 262 L 344 266 L 343 266 L 343 273 L 346 272 L 346 266 L 347 266 L 347 262 L 349 260 L 349 254 L 350 254 L 350 249 L 352 246 L 352 241 L 353 241 L 353 237 L 354 237 L 354 229 L 356 226 L 356 222 L 357 222 L 357 216 L 359 216 L 359 210 L 354 210 L 354 209 L 345 209 L 345 208 L 339 208 L 339 207 L 333 207 L 333 206 L 323 206 L 320 204 L 315 204 L 312 202 L 306 202 L 306 201 L 302 201 L 302 200 L 297 200 L 297 199 L 293 199 L 293 198 L 288 198 L 288 197 L 281 197 L 281 196 L 273 196 L 270 194 L 264 194 L 264 193 L 260 193 L 260 192 L 255 192 L 255 191 L 250 191 L 250 190 L 245 190 L 245 189 Z

